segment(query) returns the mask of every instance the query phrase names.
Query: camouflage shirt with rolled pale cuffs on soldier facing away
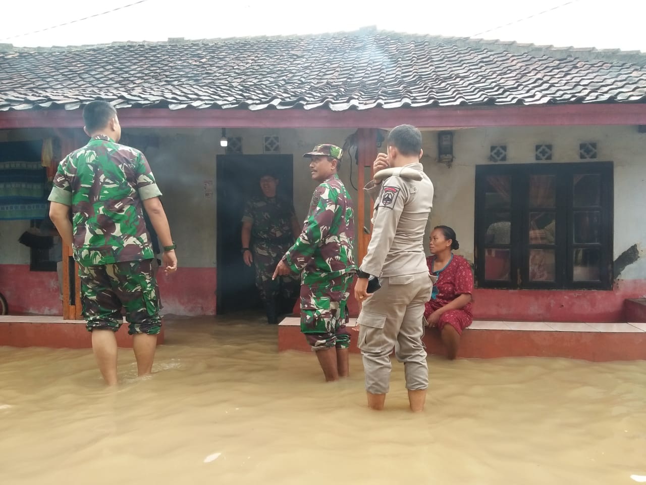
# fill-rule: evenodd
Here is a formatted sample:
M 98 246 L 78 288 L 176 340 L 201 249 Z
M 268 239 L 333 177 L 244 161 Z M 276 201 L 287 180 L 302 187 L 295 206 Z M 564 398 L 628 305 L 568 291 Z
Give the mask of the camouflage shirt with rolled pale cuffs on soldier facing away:
M 61 160 L 49 200 L 72 206 L 74 259 L 96 266 L 154 257 L 141 201 L 160 195 L 143 153 L 97 135 Z

